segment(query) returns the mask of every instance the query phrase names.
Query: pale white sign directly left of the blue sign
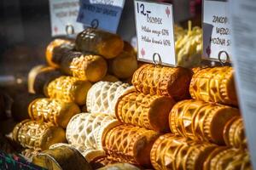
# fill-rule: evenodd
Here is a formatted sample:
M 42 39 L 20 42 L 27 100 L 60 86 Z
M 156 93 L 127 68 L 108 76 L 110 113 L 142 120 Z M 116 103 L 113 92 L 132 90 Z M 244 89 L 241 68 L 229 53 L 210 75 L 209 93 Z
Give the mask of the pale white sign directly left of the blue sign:
M 77 22 L 79 0 L 49 0 L 51 35 L 63 36 L 84 30 Z

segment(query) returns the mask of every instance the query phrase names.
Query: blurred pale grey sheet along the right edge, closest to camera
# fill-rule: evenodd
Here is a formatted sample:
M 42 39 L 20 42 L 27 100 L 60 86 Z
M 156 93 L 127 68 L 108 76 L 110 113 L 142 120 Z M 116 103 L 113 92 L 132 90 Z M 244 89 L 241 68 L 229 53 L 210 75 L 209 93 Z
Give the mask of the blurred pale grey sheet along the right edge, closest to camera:
M 250 158 L 256 169 L 256 1 L 232 0 L 230 9 L 236 87 Z

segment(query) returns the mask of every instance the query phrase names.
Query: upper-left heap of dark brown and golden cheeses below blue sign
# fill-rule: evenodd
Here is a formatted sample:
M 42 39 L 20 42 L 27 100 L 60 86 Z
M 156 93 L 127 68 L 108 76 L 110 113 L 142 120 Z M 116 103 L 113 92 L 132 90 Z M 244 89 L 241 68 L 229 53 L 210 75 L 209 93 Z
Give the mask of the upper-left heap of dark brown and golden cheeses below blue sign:
M 46 60 L 49 66 L 38 65 L 30 71 L 29 92 L 77 105 L 86 105 L 93 83 L 129 79 L 137 70 L 136 54 L 128 42 L 92 28 L 79 33 L 75 42 L 50 42 Z

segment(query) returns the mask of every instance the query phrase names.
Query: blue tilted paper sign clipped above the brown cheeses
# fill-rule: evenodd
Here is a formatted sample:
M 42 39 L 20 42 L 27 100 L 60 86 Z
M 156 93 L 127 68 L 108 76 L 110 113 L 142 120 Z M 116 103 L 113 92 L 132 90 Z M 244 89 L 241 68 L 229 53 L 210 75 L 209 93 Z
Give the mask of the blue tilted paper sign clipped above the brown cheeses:
M 115 33 L 124 5 L 125 0 L 81 0 L 78 21 Z

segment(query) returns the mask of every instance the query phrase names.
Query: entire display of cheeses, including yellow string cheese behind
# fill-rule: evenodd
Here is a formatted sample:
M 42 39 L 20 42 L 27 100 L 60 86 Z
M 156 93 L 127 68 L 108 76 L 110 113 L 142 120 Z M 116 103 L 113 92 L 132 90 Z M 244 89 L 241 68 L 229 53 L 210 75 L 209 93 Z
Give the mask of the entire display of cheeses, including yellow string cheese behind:
M 177 57 L 197 57 L 200 36 L 198 28 L 181 33 Z M 49 66 L 30 72 L 29 91 L 47 98 L 26 102 L 31 120 L 13 131 L 17 143 L 39 151 L 34 163 L 56 169 L 114 162 L 155 169 L 251 168 L 231 67 L 137 69 L 129 44 L 92 28 L 76 42 L 50 42 L 46 58 Z M 131 75 L 133 86 L 118 82 Z M 137 169 L 113 168 L 122 166 Z

